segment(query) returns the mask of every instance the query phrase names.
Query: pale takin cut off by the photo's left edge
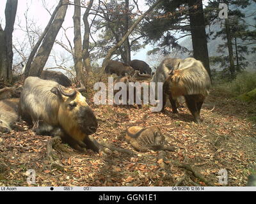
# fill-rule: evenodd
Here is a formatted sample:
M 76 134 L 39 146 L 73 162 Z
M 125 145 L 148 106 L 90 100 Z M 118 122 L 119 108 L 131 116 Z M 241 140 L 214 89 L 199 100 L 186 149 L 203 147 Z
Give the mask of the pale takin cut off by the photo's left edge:
M 0 101 L 0 133 L 10 133 L 18 128 L 15 122 L 19 119 L 19 98 L 3 99 Z

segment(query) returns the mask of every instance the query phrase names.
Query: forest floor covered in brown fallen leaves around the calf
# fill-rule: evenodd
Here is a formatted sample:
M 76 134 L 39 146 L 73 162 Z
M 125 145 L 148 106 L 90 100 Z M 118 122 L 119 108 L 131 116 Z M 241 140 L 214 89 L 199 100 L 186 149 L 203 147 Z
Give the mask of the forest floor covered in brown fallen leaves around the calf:
M 154 113 L 146 105 L 142 109 L 96 106 L 92 101 L 90 105 L 100 119 L 93 135 L 99 142 L 136 152 L 125 142 L 125 130 L 157 125 L 175 152 L 131 156 L 114 150 L 104 155 L 77 152 L 65 145 L 67 152 L 54 149 L 58 166 L 47 157 L 50 136 L 12 131 L 0 136 L 0 186 L 29 186 L 29 169 L 36 172 L 32 186 L 208 186 L 190 167 L 214 186 L 221 186 L 221 169 L 228 172 L 227 186 L 245 186 L 248 174 L 256 173 L 256 125 L 249 120 L 256 115 L 255 103 L 229 99 L 212 89 L 202 108 L 202 124 L 193 122 L 186 106 L 173 115 L 170 108 Z M 186 165 L 182 168 L 173 161 Z

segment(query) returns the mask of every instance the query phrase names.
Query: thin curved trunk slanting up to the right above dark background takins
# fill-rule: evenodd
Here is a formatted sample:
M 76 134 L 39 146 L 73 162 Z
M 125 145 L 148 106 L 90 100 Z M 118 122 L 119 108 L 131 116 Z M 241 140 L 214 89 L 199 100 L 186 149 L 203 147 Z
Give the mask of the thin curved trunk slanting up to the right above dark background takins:
M 125 33 L 125 35 L 124 35 L 124 37 L 122 38 L 122 40 L 120 40 L 113 48 L 111 48 L 111 49 L 108 51 L 108 53 L 107 53 L 107 55 L 106 55 L 104 61 L 102 62 L 102 67 L 101 67 L 100 73 L 99 73 L 99 76 L 100 76 L 99 80 L 101 80 L 101 77 L 102 77 L 102 75 L 103 75 L 103 73 L 104 73 L 104 70 L 105 70 L 106 66 L 108 65 L 108 62 L 109 62 L 110 57 L 111 57 L 111 55 L 113 54 L 113 52 L 115 52 L 115 50 L 118 49 L 118 47 L 120 47 L 120 46 L 124 43 L 124 41 L 128 38 L 129 34 L 132 33 L 132 31 L 134 30 L 134 28 L 141 22 L 141 20 L 142 20 L 148 13 L 150 13 L 150 11 L 152 11 L 152 10 L 156 7 L 156 5 L 159 4 L 160 2 L 161 2 L 161 0 L 157 0 L 156 3 L 152 4 L 152 6 L 150 6 L 150 8 L 148 8 L 148 10 L 147 10 L 145 13 L 143 13 L 143 15 L 141 15 L 141 16 L 134 22 L 134 24 L 131 25 L 131 27 L 129 28 L 128 32 Z

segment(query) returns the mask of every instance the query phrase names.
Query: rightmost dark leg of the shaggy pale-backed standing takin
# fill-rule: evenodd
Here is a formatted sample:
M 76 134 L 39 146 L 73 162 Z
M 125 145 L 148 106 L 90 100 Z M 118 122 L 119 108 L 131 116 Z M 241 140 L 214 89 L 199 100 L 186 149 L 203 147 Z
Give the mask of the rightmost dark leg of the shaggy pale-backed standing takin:
M 188 106 L 189 111 L 191 112 L 191 114 L 193 115 L 193 117 L 195 118 L 195 122 L 196 123 L 200 123 L 200 110 L 198 110 L 199 106 L 202 106 L 196 103 L 196 95 L 187 95 L 184 96 L 186 99 L 186 104 Z

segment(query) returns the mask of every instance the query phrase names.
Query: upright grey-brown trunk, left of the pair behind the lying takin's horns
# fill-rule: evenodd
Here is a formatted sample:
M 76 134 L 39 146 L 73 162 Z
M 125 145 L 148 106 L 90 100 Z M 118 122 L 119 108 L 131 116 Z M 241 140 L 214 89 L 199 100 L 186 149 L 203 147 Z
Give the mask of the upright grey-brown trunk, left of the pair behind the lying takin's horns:
M 81 7 L 80 0 L 75 0 L 74 9 L 74 64 L 76 70 L 76 78 L 81 86 L 86 87 L 87 74 L 83 66 L 82 56 L 82 39 L 81 39 Z

